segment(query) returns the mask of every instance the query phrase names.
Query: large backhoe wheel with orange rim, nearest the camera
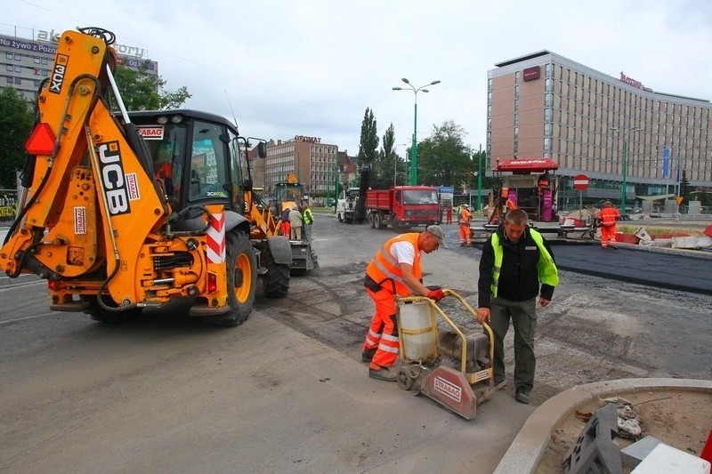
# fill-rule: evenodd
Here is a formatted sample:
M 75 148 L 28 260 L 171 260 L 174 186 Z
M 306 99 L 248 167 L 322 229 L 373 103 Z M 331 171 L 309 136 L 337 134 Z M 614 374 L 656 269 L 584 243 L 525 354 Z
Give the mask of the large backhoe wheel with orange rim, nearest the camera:
M 257 264 L 252 244 L 244 232 L 228 232 L 225 238 L 230 311 L 221 317 L 208 317 L 207 321 L 213 325 L 232 326 L 244 323 L 252 311 L 255 303 Z

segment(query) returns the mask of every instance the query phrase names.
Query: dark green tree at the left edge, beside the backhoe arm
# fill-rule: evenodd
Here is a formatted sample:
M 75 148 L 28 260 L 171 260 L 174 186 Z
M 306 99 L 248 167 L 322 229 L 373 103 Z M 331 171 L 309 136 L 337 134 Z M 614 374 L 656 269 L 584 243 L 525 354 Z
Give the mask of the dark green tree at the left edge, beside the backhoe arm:
M 0 188 L 16 189 L 25 163 L 25 142 L 32 133 L 32 110 L 10 87 L 0 89 Z

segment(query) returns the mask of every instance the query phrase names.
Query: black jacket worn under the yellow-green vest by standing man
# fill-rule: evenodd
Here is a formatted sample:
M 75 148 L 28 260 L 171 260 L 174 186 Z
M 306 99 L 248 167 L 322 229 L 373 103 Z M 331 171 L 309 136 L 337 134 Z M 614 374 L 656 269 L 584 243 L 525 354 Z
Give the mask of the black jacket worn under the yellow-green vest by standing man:
M 540 295 L 546 300 L 551 300 L 554 295 L 554 286 L 541 285 L 539 292 L 539 277 L 537 263 L 539 261 L 539 248 L 534 239 L 530 237 L 529 227 L 524 230 L 524 235 L 519 242 L 512 244 L 505 237 L 504 224 L 497 229 L 499 242 L 502 245 L 502 268 L 499 272 L 498 298 L 508 301 L 529 301 Z M 546 239 L 546 250 L 554 259 Z M 477 284 L 479 292 L 478 305 L 481 308 L 490 308 L 492 299 L 492 268 L 495 264 L 495 251 L 492 248 L 492 237 L 487 239 L 482 249 L 480 258 L 480 280 Z

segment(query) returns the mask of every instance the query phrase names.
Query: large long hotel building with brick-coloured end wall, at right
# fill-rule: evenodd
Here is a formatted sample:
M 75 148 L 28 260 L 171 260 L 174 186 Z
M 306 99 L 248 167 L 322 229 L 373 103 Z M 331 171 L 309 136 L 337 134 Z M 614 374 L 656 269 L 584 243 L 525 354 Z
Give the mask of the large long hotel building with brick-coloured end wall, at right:
M 586 174 L 591 202 L 621 197 L 627 141 L 627 205 L 673 193 L 679 169 L 712 188 L 712 104 L 608 76 L 554 52 L 506 60 L 488 72 L 487 157 L 548 157 L 562 176 L 558 202 L 578 202 Z M 663 174 L 663 164 L 667 174 Z

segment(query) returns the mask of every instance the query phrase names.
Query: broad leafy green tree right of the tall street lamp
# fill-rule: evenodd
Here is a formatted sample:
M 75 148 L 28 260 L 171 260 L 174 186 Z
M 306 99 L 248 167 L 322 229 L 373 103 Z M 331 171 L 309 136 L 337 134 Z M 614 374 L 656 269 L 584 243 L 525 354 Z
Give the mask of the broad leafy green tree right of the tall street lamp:
M 473 150 L 465 144 L 465 129 L 453 121 L 433 125 L 430 137 L 417 145 L 418 184 L 451 185 L 456 189 L 476 185 Z M 483 165 L 484 166 L 484 165 Z

